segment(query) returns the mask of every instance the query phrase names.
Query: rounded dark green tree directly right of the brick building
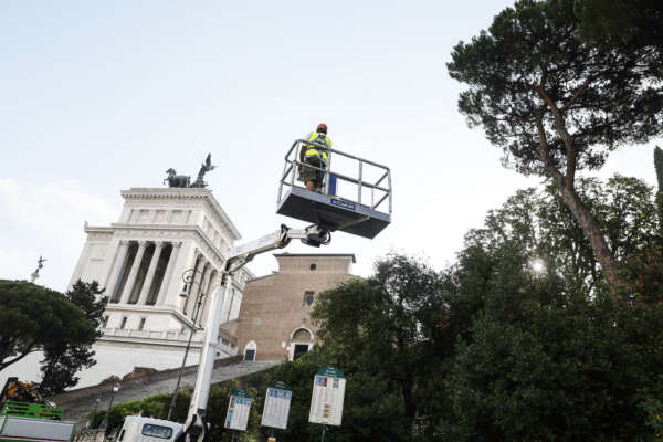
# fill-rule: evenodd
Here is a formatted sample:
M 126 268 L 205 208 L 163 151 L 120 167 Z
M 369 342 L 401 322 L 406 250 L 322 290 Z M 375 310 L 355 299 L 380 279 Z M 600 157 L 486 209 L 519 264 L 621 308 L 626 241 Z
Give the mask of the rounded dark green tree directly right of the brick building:
M 422 261 L 390 254 L 368 280 L 323 293 L 312 313 L 325 352 L 339 367 L 380 373 L 398 389 L 406 428 L 421 403 L 427 361 L 435 358 L 429 344 L 444 317 L 442 287 L 440 275 Z

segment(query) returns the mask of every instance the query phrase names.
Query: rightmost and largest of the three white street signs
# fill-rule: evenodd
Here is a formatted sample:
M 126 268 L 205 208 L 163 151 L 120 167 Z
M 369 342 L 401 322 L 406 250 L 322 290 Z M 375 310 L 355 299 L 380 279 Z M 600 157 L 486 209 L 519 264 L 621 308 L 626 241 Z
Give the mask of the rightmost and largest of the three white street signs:
M 340 425 L 345 376 L 334 367 L 320 368 L 313 380 L 308 422 Z

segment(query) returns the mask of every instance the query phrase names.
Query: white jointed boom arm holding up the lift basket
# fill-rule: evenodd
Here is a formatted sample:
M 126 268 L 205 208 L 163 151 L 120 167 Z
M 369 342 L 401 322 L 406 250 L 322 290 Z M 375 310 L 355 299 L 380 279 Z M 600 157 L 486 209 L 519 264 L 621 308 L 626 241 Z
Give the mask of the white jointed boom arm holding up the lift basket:
M 217 358 L 221 313 L 223 312 L 223 306 L 229 298 L 232 288 L 233 273 L 240 270 L 255 255 L 275 249 L 283 249 L 293 239 L 299 239 L 308 245 L 319 246 L 320 244 L 327 244 L 330 240 L 330 235 L 328 231 L 318 225 L 309 225 L 306 229 L 298 230 L 281 225 L 281 229 L 273 233 L 232 249 L 230 257 L 225 262 L 225 269 L 221 281 L 221 285 L 224 287 L 223 296 L 219 296 L 221 292 L 221 285 L 219 285 L 211 298 L 210 314 L 208 315 L 207 324 L 204 326 L 204 341 L 201 348 L 196 387 L 193 388 L 191 404 L 189 406 L 189 415 L 185 423 L 183 439 L 179 440 L 187 442 L 202 442 L 208 430 L 204 413 L 210 396 L 214 360 Z

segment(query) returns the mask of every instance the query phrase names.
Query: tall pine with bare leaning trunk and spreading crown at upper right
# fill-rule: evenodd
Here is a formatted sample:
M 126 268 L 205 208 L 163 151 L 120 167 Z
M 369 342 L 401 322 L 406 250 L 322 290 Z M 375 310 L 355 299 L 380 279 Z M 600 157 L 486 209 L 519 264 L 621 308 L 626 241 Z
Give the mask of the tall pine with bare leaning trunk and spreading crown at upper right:
M 502 148 L 506 166 L 554 180 L 602 270 L 615 276 L 618 264 L 576 192 L 576 172 L 661 134 L 655 54 L 585 43 L 572 0 L 520 0 L 487 32 L 460 42 L 448 67 L 469 86 L 459 99 L 469 124 Z

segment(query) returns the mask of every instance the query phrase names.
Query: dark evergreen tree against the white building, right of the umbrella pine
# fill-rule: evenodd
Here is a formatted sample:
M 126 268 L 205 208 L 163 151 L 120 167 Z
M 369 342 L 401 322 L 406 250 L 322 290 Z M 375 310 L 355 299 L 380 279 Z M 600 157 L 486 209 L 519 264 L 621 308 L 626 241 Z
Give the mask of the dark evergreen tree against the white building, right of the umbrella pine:
M 98 328 L 108 302 L 107 297 L 102 297 L 103 293 L 96 281 L 84 283 L 81 280 L 65 293 L 65 297 L 83 312 L 85 319 L 95 328 L 95 339 L 102 336 Z M 74 387 L 78 382 L 76 372 L 96 364 L 92 344 L 93 341 L 64 340 L 45 344 L 44 359 L 41 362 L 43 378 L 40 382 L 40 392 L 48 397 Z

